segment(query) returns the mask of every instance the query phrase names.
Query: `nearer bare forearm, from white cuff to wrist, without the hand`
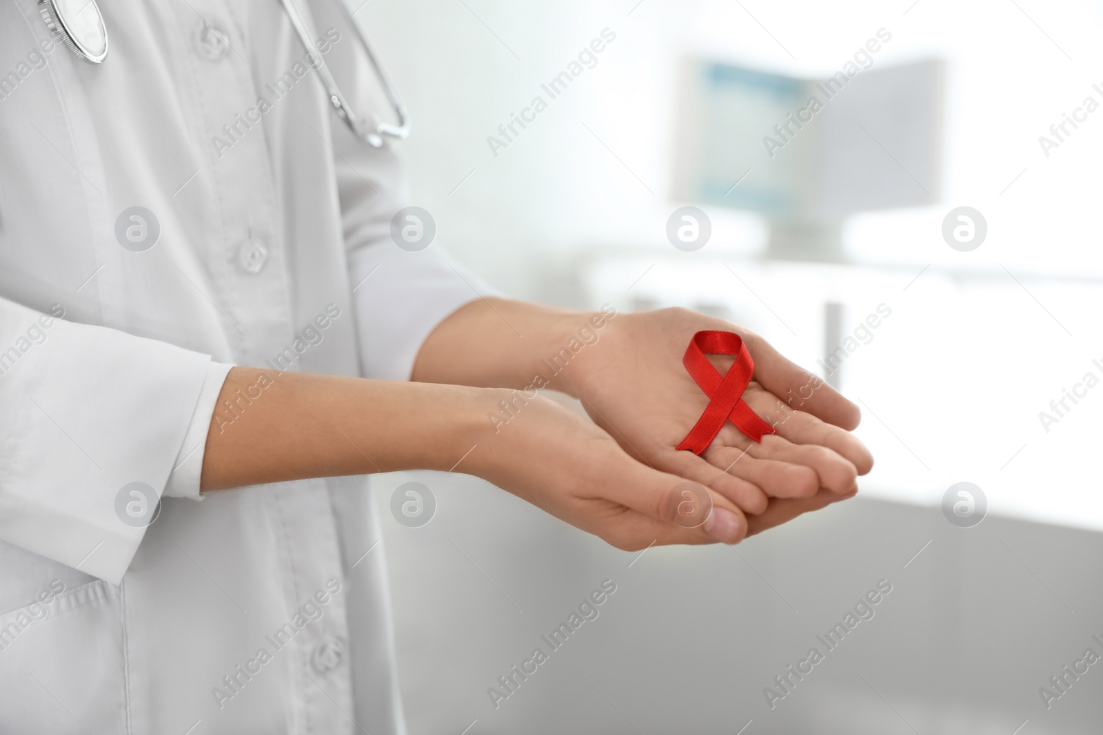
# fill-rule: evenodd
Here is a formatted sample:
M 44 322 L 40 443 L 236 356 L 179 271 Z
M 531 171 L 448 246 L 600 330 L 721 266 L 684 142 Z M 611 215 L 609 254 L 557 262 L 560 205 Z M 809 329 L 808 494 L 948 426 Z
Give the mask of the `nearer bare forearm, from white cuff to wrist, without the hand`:
M 494 391 L 236 367 L 207 433 L 201 489 L 449 469 L 486 431 Z M 229 418 L 227 418 L 229 417 Z

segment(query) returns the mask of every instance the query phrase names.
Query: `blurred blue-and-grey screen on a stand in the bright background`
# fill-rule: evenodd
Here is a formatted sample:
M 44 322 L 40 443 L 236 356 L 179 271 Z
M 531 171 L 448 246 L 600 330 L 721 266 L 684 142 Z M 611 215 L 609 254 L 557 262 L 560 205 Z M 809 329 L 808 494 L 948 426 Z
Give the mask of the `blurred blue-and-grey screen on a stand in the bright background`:
M 771 255 L 839 259 L 847 216 L 940 199 L 943 76 L 941 61 L 801 79 L 687 60 L 675 196 L 762 214 Z

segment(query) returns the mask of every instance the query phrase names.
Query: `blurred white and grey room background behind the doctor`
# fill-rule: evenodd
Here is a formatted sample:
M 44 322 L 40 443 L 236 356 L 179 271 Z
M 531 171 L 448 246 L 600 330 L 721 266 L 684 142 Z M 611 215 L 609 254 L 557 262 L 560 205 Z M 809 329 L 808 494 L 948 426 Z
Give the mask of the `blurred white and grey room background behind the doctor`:
M 1103 655 L 1103 4 L 356 18 L 411 111 L 410 201 L 439 247 L 510 296 L 751 327 L 859 402 L 877 458 L 855 500 L 643 555 L 474 478 L 378 478 L 411 733 L 1100 732 L 1103 666 L 1039 690 Z M 419 528 L 390 522 L 410 480 L 437 498 Z M 972 519 L 943 511 L 962 482 Z M 488 689 L 603 580 L 600 616 L 495 709 Z M 771 707 L 880 580 L 876 616 Z

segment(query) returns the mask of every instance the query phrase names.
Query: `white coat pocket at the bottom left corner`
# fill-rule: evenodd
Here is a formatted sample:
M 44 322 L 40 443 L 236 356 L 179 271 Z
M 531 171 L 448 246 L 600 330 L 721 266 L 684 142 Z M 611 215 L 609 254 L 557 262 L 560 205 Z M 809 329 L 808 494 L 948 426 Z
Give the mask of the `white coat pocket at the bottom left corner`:
M 96 580 L 0 615 L 0 733 L 127 732 L 121 610 Z

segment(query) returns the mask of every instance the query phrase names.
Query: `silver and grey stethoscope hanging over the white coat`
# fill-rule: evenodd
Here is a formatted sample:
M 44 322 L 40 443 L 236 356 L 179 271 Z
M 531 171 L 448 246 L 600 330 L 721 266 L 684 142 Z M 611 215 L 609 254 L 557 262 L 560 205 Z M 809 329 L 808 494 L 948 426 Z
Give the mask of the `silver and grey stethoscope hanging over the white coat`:
M 310 33 L 307 31 L 307 24 L 303 22 L 302 15 L 299 14 L 292 0 L 280 0 L 280 2 L 283 4 L 283 10 L 287 12 L 288 18 L 291 19 L 291 25 L 295 26 L 295 32 L 299 35 L 299 40 L 302 41 L 307 51 L 312 52 L 313 45 L 310 43 Z M 373 127 L 373 122 L 358 117 L 349 106 L 349 101 L 344 95 L 341 94 L 338 83 L 330 73 L 330 67 L 325 65 L 325 60 L 322 58 L 321 54 L 313 54 L 313 57 L 318 60 L 318 65 L 314 68 L 318 71 L 318 75 L 325 86 L 325 90 L 330 96 L 330 102 L 336 110 L 338 117 L 344 120 L 349 129 L 373 148 L 383 147 L 384 136 L 406 138 L 410 132 L 409 112 L 406 111 L 406 107 L 398 99 L 390 79 L 383 73 L 383 68 L 376 61 L 375 54 L 372 53 L 372 48 L 367 44 L 367 39 L 364 36 L 363 31 L 360 30 L 352 14 L 349 13 L 349 8 L 345 6 L 344 0 L 336 0 L 336 3 L 341 6 L 349 23 L 356 29 L 356 36 L 364 47 L 364 53 L 375 69 L 375 75 L 378 77 L 383 90 L 387 95 L 390 107 L 395 110 L 395 115 L 398 116 L 398 125 L 376 120 Z M 107 58 L 107 28 L 104 25 L 104 17 L 99 12 L 96 0 L 39 0 L 39 12 L 42 14 L 43 20 L 46 21 L 50 31 L 54 35 L 61 36 L 65 45 L 77 57 L 90 64 L 101 64 Z

